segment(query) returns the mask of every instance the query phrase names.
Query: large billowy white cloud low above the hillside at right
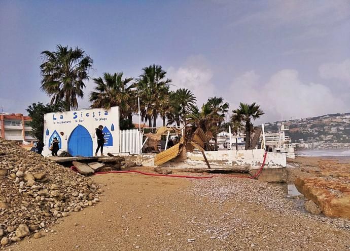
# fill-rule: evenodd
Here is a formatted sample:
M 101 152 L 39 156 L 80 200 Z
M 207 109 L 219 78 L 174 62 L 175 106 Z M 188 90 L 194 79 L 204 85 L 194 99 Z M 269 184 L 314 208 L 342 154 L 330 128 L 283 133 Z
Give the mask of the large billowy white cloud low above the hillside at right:
M 243 73 L 234 79 L 231 92 L 234 97 L 227 99 L 232 109 L 239 102 L 257 102 L 265 111 L 263 121 L 344 112 L 346 108 L 328 87 L 302 82 L 294 69 L 278 71 L 266 83 L 254 71 Z

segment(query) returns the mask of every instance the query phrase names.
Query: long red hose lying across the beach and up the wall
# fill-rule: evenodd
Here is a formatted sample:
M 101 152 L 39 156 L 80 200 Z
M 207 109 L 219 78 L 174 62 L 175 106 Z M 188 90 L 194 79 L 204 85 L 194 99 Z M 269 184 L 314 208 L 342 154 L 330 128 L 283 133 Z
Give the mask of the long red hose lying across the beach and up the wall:
M 204 177 L 198 177 L 198 176 L 188 176 L 188 175 L 166 175 L 166 174 L 152 174 L 152 173 L 145 173 L 142 171 L 110 171 L 110 172 L 99 172 L 99 173 L 95 173 L 94 175 L 99 175 L 99 174 L 111 174 L 111 173 L 116 173 L 116 174 L 126 174 L 126 173 L 136 173 L 136 174 L 143 174 L 143 175 L 147 175 L 147 176 L 162 176 L 162 177 L 175 177 L 175 178 L 188 178 L 188 179 L 211 179 L 214 177 L 234 177 L 234 178 L 249 178 L 249 179 L 255 179 L 256 177 L 259 176 L 259 174 L 261 173 L 262 169 L 264 168 L 265 165 L 265 161 L 266 161 L 266 156 L 267 156 L 267 152 L 265 152 L 264 154 L 264 160 L 260 166 L 259 171 L 250 177 L 247 176 L 238 176 L 238 175 L 211 175 L 211 176 L 204 176 Z M 75 166 L 72 166 L 71 169 L 73 171 Z

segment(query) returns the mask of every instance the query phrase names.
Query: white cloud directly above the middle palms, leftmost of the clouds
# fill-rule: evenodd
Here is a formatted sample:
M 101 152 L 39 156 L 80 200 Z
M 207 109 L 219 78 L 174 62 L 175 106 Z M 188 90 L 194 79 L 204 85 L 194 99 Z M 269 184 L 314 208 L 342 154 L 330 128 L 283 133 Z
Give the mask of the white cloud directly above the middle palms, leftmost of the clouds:
M 167 77 L 172 79 L 172 90 L 187 88 L 197 98 L 197 105 L 200 107 L 208 97 L 215 96 L 215 88 L 212 81 L 213 72 L 206 66 L 202 56 L 190 57 L 185 66 L 167 69 Z

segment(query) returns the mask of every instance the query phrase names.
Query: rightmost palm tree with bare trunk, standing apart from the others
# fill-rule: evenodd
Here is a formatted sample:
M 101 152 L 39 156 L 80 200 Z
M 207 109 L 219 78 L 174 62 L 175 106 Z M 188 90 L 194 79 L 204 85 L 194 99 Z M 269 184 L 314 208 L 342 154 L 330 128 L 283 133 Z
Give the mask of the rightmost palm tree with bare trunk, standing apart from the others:
M 264 112 L 260 109 L 260 105 L 255 102 L 253 104 L 240 103 L 239 108 L 232 111 L 233 115 L 242 116 L 246 122 L 246 150 L 251 144 L 251 120 L 259 118 Z

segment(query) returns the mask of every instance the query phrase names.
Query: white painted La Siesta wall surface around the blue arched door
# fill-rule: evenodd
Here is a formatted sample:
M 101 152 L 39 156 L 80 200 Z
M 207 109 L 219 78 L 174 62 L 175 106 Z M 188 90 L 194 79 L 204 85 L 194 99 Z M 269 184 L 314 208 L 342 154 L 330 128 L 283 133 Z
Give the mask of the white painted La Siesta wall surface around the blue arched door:
M 114 131 L 111 130 L 112 123 L 114 125 Z M 49 139 L 56 131 L 61 138 L 61 151 L 67 151 L 67 143 L 69 136 L 73 130 L 78 126 L 82 125 L 87 129 L 92 138 L 93 154 L 97 148 L 97 137 L 95 129 L 98 125 L 107 127 L 113 137 L 113 146 L 104 146 L 104 153 L 119 153 L 119 107 L 111 107 L 110 110 L 104 109 L 89 109 L 89 110 L 77 110 L 67 112 L 56 112 L 47 113 L 44 116 L 44 150 L 43 155 L 51 155 L 49 150 L 50 142 Z M 46 135 L 49 130 L 49 135 Z M 63 133 L 63 136 L 60 133 Z

